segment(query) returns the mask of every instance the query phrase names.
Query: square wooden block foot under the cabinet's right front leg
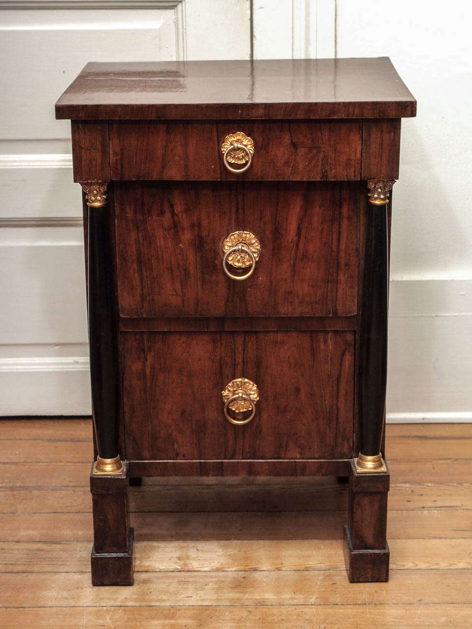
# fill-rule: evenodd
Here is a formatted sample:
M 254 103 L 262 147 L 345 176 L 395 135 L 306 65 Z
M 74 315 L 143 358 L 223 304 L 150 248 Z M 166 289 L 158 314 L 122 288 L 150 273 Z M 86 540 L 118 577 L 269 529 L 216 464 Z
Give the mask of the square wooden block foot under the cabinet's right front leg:
M 344 561 L 351 583 L 388 581 L 390 550 L 352 550 L 351 530 L 344 526 Z

